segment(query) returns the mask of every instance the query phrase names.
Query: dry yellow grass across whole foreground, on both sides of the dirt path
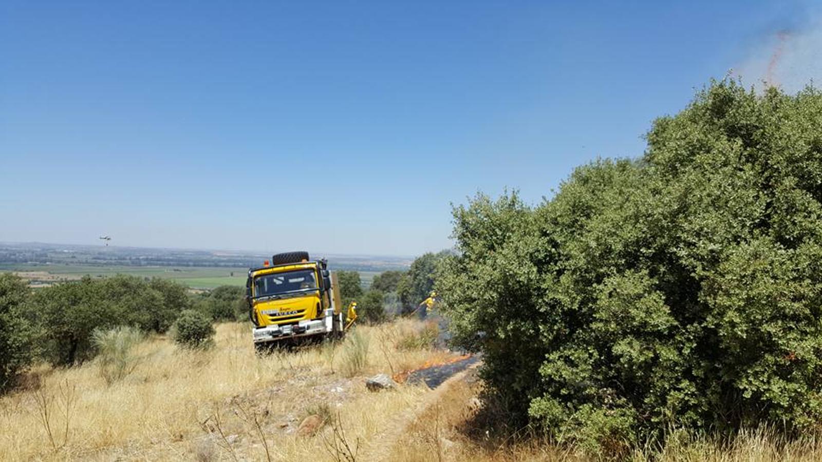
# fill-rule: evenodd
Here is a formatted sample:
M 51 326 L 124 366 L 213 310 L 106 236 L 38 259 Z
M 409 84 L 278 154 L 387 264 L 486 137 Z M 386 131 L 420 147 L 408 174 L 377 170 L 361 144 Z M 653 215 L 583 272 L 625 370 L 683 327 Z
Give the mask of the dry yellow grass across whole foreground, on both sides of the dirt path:
M 41 366 L 23 390 L 0 398 L 0 460 L 345 460 L 349 451 L 355 460 L 400 462 L 588 460 L 546 441 L 468 437 L 478 381 L 450 381 L 433 393 L 424 386 L 368 392 L 368 375 L 446 359 L 430 349 L 398 349 L 421 327 L 408 320 L 358 327 L 369 347 L 354 377 L 343 373 L 344 343 L 260 358 L 239 323 L 218 326 L 210 351 L 145 340 L 136 369 L 110 386 L 95 363 Z M 320 413 L 326 425 L 298 437 L 308 413 Z M 810 461 L 822 460 L 822 443 L 782 441 L 766 431 L 725 446 L 683 437 L 627 459 Z

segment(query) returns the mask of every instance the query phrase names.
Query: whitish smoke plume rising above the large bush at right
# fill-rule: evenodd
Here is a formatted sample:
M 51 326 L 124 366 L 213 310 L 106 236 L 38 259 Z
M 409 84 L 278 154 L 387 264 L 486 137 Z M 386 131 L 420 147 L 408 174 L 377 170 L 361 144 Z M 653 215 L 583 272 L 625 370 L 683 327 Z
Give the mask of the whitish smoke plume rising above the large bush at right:
M 760 90 L 773 85 L 796 93 L 810 83 L 822 85 L 822 21 L 801 30 L 775 30 L 732 75 Z

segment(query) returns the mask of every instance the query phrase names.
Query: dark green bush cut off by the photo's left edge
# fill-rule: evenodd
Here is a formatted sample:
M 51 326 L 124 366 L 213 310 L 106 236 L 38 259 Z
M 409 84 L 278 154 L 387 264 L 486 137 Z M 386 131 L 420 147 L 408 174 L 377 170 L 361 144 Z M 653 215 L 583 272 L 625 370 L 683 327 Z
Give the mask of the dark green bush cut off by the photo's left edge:
M 0 391 L 29 367 L 37 349 L 37 330 L 25 319 L 30 289 L 12 273 L 0 274 Z

